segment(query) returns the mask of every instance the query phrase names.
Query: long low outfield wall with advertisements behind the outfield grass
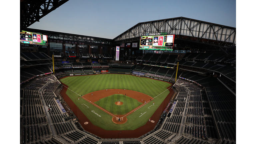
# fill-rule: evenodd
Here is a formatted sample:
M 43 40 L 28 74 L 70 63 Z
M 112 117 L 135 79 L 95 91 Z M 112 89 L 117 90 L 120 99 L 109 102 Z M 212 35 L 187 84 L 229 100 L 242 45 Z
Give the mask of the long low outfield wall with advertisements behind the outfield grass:
M 135 75 L 135 76 L 139 76 L 139 77 L 148 77 L 148 78 L 152 78 L 152 79 L 156 79 L 156 80 L 161 80 L 161 81 L 167 81 L 170 83 L 175 83 L 173 81 L 170 81 L 168 79 L 162 79 L 162 78 L 158 78 L 158 77 L 153 77 L 153 76 L 147 76 L 145 75 L 145 73 L 139 73 L 139 72 L 134 72 L 132 71 L 132 73 L 129 72 L 95 72 L 95 73 L 72 73 L 72 74 L 64 74 L 64 75 L 60 75 L 60 76 L 56 76 L 58 79 L 65 77 L 65 76 L 77 76 L 77 75 L 95 75 L 95 74 L 129 74 L 129 75 Z

